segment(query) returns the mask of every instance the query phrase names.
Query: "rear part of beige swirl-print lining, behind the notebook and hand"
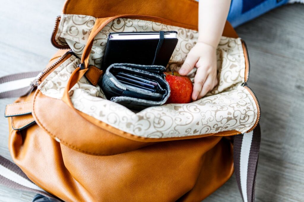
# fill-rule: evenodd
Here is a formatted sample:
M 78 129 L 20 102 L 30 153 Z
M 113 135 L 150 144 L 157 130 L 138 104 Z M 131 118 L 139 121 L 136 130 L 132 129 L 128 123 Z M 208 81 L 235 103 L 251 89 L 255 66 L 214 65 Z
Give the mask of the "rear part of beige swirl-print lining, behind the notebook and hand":
M 88 37 L 94 26 L 96 18 L 87 15 L 65 15 L 61 16 L 55 40 L 59 45 L 69 45 L 76 55 L 81 58 L 82 51 L 86 45 Z M 96 67 L 101 66 L 105 45 L 110 32 L 122 31 L 178 31 L 178 44 L 170 58 L 167 66 L 168 70 L 178 71 L 184 63 L 187 54 L 195 45 L 198 32 L 191 29 L 180 28 L 171 25 L 164 25 L 138 19 L 117 18 L 109 22 L 95 37 L 89 59 L 89 63 Z M 212 94 L 219 93 L 225 88 L 239 82 L 244 82 L 245 60 L 240 38 L 222 37 L 217 49 L 219 81 L 218 90 Z M 221 64 L 225 63 L 225 64 Z M 229 68 L 225 74 L 221 74 L 223 68 Z M 190 73 L 189 77 L 194 81 L 196 68 Z M 209 94 L 211 95 L 211 94 Z

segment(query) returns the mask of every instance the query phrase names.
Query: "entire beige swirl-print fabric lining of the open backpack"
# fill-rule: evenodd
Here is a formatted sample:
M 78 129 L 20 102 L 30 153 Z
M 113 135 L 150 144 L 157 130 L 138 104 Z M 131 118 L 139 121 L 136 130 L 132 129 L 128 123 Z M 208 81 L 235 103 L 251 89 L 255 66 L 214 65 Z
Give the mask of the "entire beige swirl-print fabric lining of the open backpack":
M 95 23 L 83 15 L 62 15 L 55 36 L 60 45 L 69 45 L 81 57 Z M 145 20 L 118 18 L 106 25 L 95 37 L 90 64 L 100 66 L 107 36 L 117 31 L 178 31 L 178 45 L 168 68 L 178 70 L 198 37 L 197 31 Z M 40 84 L 40 91 L 61 99 L 71 73 L 80 60 L 71 56 Z M 74 107 L 122 131 L 141 137 L 182 137 L 219 131 L 248 131 L 257 120 L 257 105 L 241 85 L 244 82 L 245 59 L 240 38 L 222 37 L 217 48 L 219 84 L 205 98 L 190 104 L 166 104 L 134 113 L 124 106 L 106 100 L 99 86 L 85 77 L 70 91 Z M 195 70 L 189 77 L 193 80 Z

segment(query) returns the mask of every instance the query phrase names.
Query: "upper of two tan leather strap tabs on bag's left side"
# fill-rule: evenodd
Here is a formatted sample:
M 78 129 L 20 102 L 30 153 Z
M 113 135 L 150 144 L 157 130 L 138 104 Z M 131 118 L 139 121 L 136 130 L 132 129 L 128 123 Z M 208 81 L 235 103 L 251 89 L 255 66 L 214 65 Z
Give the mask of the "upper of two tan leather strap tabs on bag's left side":
M 32 101 L 7 104 L 5 107 L 5 117 L 21 116 L 32 113 Z

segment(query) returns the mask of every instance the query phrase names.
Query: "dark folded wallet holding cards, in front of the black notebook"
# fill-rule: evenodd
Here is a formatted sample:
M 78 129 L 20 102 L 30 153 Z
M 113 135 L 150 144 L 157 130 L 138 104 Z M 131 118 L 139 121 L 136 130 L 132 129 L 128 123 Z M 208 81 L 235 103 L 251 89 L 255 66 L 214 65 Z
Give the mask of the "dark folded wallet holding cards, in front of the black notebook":
M 160 65 L 114 63 L 106 69 L 99 86 L 107 99 L 134 111 L 164 104 L 170 96 L 170 86 L 165 80 L 166 68 Z M 142 78 L 155 83 L 155 91 L 134 88 L 119 77 L 121 74 Z

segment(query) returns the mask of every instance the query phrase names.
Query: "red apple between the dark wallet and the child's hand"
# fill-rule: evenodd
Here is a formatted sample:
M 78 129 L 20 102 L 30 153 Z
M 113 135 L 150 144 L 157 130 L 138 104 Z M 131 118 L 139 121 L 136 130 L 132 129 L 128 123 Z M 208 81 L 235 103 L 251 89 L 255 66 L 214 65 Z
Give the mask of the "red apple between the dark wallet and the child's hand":
M 171 94 L 166 104 L 184 104 L 191 102 L 193 84 L 187 76 L 181 76 L 177 72 L 165 72 L 166 81 L 169 83 Z

